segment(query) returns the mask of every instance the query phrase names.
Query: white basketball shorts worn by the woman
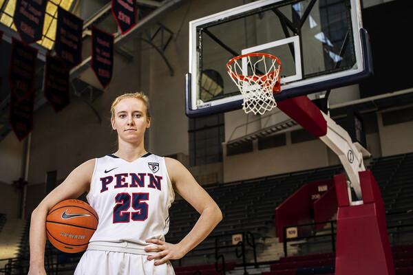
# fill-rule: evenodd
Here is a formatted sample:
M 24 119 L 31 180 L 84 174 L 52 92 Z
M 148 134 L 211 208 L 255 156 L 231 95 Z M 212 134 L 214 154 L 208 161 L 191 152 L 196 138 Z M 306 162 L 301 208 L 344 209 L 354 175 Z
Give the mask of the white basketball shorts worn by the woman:
M 169 261 L 154 265 L 148 255 L 103 250 L 87 250 L 79 261 L 74 275 L 173 275 Z

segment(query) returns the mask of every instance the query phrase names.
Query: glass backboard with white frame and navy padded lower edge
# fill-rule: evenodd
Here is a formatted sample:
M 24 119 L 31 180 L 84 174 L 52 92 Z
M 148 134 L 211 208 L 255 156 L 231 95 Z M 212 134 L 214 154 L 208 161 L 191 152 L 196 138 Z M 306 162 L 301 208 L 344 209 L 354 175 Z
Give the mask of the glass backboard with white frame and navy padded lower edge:
M 226 63 L 251 52 L 281 61 L 276 101 L 352 85 L 372 74 L 358 0 L 255 1 L 189 23 L 189 117 L 242 108 Z

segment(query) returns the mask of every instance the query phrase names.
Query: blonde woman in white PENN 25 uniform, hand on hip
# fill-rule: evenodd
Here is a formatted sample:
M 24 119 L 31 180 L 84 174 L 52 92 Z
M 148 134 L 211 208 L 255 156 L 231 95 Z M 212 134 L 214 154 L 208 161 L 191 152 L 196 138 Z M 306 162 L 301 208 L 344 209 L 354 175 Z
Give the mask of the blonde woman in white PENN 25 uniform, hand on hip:
M 78 166 L 32 212 L 30 275 L 45 274 L 47 212 L 85 191 L 99 223 L 75 274 L 174 274 L 169 260 L 195 248 L 222 219 L 218 205 L 180 162 L 145 151 L 145 130 L 151 124 L 147 96 L 119 96 L 111 112 L 118 151 Z M 175 192 L 200 218 L 182 241 L 172 244 L 165 234 Z

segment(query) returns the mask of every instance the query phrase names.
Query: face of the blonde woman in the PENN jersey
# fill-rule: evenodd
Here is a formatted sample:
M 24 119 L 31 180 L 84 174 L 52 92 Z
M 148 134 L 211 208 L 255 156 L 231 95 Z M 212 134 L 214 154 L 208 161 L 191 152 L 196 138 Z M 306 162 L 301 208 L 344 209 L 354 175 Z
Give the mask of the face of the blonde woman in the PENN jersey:
M 116 104 L 111 122 L 120 139 L 128 142 L 143 140 L 145 130 L 151 124 L 146 108 L 145 103 L 138 98 L 123 98 Z

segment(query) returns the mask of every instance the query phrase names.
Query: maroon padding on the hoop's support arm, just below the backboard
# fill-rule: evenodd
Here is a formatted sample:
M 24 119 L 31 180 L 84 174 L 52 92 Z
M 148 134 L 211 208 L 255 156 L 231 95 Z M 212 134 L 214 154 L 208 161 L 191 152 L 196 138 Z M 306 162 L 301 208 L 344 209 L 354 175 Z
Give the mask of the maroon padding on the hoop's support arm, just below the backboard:
M 307 96 L 277 102 L 277 107 L 315 137 L 326 135 L 327 122 L 319 107 Z

